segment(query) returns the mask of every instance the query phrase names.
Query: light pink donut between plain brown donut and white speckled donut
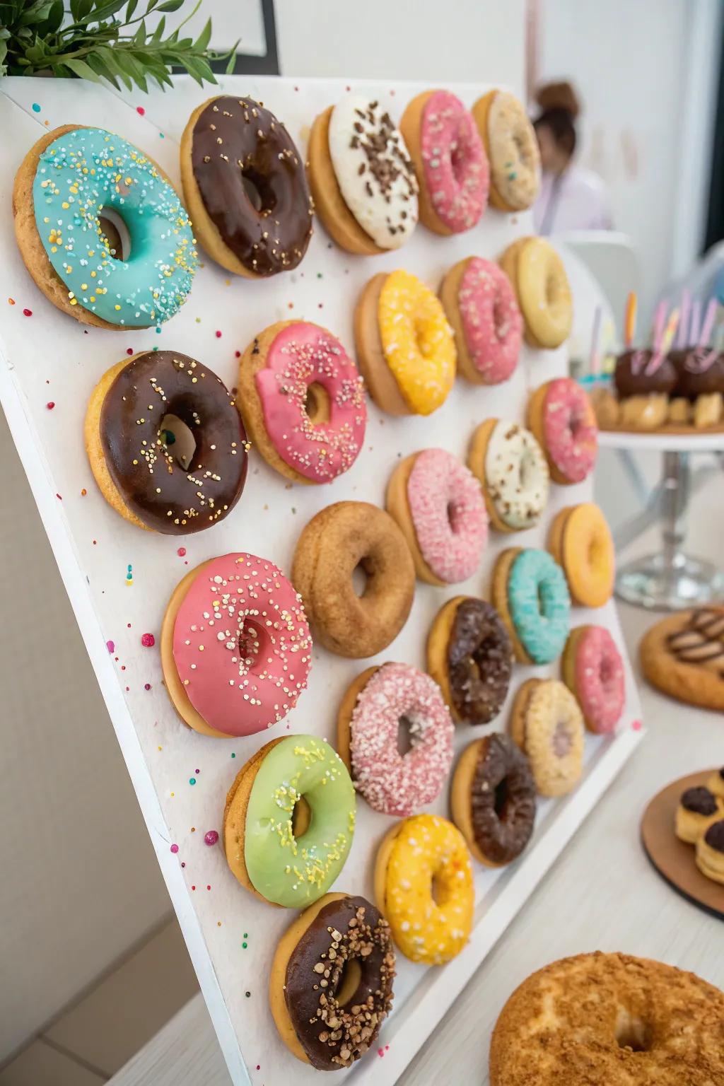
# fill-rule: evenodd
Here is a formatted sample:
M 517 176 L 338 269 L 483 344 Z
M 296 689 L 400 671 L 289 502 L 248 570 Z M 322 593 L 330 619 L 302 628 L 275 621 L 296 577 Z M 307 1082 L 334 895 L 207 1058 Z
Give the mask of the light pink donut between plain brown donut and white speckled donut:
M 456 456 L 425 449 L 404 459 L 388 484 L 386 508 L 421 580 L 445 585 L 472 577 L 487 543 L 487 512 L 480 482 Z

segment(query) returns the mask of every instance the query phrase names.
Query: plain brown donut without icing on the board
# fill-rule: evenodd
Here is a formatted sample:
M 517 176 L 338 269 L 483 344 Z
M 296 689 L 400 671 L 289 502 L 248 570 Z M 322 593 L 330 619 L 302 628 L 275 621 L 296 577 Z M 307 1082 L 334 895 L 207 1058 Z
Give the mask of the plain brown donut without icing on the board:
M 361 595 L 353 573 L 366 577 Z M 336 502 L 312 518 L 292 564 L 316 641 L 339 656 L 374 656 L 410 613 L 415 564 L 392 517 L 367 502 Z

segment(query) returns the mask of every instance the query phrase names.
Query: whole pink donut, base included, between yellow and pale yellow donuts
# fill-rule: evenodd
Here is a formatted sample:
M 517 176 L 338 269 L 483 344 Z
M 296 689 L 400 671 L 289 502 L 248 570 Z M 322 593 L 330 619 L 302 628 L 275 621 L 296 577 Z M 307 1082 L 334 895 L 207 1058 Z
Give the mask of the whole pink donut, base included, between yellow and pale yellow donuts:
M 455 264 L 440 289 L 455 331 L 458 369 L 475 384 L 500 384 L 518 365 L 523 318 L 505 272 L 480 256 Z

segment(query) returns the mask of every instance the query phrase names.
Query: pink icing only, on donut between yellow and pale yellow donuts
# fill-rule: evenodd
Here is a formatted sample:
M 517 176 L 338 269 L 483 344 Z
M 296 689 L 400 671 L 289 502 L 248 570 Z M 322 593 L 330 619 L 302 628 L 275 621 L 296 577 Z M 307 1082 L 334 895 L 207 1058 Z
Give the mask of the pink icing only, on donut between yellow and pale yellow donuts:
M 507 381 L 518 365 L 523 331 L 516 292 L 503 268 L 471 256 L 457 305 L 470 361 L 485 384 Z

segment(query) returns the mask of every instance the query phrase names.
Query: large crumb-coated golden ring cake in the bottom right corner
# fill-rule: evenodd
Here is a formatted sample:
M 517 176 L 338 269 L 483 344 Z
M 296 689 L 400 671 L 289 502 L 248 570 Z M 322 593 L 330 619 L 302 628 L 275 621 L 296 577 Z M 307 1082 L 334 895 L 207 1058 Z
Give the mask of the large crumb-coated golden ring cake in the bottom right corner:
M 724 994 L 694 973 L 599 950 L 563 958 L 503 1008 L 491 1086 L 713 1086 L 722 1023 Z

